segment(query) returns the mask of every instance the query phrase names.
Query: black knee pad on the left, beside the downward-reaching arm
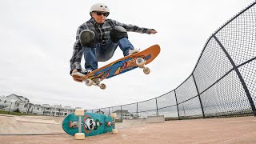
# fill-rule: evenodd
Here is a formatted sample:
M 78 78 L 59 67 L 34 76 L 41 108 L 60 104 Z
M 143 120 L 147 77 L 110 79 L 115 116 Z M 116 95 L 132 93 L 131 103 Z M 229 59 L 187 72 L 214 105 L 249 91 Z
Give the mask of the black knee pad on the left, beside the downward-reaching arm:
M 81 46 L 94 47 L 96 35 L 92 30 L 82 30 L 80 33 Z

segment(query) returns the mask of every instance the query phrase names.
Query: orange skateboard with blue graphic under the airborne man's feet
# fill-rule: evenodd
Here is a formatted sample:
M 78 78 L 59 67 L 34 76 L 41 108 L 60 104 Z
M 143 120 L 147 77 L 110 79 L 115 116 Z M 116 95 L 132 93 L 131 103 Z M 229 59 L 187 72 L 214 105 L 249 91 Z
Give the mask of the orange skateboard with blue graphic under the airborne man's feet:
M 112 78 L 118 74 L 126 73 L 127 71 L 134 70 L 135 68 L 142 68 L 145 74 L 150 74 L 150 68 L 145 65 L 149 64 L 158 56 L 160 53 L 160 46 L 150 46 L 146 50 L 142 50 L 138 53 L 127 55 L 126 57 L 120 58 L 106 66 L 92 71 L 90 74 L 86 74 L 81 77 L 72 74 L 73 77 L 82 78 L 82 81 L 87 86 L 99 86 L 102 90 L 106 89 L 106 85 L 101 83 L 106 78 Z

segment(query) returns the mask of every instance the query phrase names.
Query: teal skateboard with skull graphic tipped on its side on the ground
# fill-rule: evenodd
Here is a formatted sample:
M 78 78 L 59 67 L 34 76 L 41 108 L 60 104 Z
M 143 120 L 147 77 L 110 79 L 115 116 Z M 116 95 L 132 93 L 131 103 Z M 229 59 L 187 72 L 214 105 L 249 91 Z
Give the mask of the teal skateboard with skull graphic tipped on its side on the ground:
M 106 116 L 104 114 L 86 113 L 84 110 L 75 110 L 68 114 L 62 122 L 62 128 L 66 134 L 74 136 L 76 139 L 84 139 L 87 136 L 113 133 L 115 129 L 116 114 Z

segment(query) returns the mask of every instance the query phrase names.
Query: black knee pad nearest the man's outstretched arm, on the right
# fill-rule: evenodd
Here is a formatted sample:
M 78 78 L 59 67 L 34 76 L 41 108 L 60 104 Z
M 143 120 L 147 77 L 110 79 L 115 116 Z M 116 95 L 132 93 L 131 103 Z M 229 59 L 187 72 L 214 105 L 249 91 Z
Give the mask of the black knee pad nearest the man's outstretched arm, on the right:
M 128 38 L 128 34 L 125 28 L 122 26 L 114 26 L 112 30 L 110 30 L 110 38 L 112 42 L 118 42 L 121 38 Z

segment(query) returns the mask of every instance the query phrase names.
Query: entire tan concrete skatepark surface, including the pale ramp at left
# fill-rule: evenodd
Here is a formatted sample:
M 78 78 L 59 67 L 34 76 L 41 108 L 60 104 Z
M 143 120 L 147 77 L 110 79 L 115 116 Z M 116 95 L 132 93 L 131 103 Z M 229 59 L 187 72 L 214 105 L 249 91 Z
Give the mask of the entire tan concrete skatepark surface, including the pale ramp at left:
M 75 140 L 62 130 L 62 119 L 0 115 L 0 143 L 255 143 L 256 117 L 206 118 L 166 122 L 127 120 L 118 134 Z M 34 134 L 34 135 L 30 135 Z

